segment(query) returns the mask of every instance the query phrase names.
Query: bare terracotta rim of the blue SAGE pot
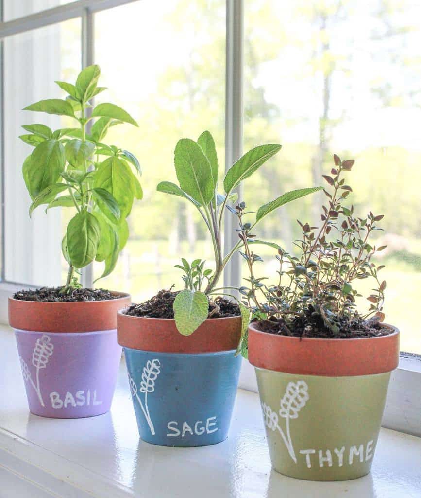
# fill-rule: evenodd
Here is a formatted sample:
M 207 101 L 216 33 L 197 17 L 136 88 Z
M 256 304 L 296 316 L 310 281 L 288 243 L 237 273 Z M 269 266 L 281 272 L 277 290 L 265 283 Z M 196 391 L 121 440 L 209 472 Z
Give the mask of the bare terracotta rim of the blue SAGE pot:
M 180 334 L 173 318 L 150 318 L 117 313 L 117 341 L 130 349 L 157 353 L 200 354 L 237 349 L 241 316 L 207 318 L 189 336 Z

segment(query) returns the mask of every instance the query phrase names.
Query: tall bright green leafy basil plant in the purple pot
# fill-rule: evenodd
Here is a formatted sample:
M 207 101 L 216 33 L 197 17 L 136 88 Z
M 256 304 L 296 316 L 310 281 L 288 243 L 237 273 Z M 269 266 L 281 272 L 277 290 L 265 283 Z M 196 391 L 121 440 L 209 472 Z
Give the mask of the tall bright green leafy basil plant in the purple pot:
M 111 273 L 127 242 L 126 218 L 134 199 L 142 199 L 140 166 L 127 150 L 104 143 L 111 126 L 136 121 L 114 104 L 92 106 L 92 99 L 106 90 L 98 86 L 100 69 L 86 67 L 76 83 L 57 81 L 68 96 L 47 99 L 24 110 L 68 116 L 72 128 L 51 130 L 44 124 L 25 124 L 20 138 L 32 145 L 25 159 L 23 178 L 32 199 L 29 209 L 46 205 L 46 211 L 70 207 L 76 211 L 63 238 L 63 255 L 69 263 L 65 289 L 78 286 L 75 271 L 91 261 L 103 261 L 101 277 Z

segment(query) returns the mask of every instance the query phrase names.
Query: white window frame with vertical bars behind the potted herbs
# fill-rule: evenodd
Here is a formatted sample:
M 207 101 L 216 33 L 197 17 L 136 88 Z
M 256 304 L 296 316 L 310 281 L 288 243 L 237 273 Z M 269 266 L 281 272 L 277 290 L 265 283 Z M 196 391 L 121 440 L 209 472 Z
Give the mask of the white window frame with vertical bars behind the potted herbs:
M 3 20 L 3 5 L 0 0 L 0 96 L 3 93 L 3 44 L 7 37 L 36 28 L 56 24 L 69 19 L 81 18 L 82 22 L 82 67 L 94 63 L 94 13 L 112 7 L 144 0 L 78 0 L 36 12 L 7 22 Z M 152 0 L 145 0 L 152 1 Z M 155 0 L 156 1 L 156 0 Z M 291 0 L 292 1 L 292 0 Z M 241 155 L 243 148 L 243 49 L 244 49 L 244 0 L 226 0 L 226 101 L 225 101 L 225 164 L 226 169 Z M 23 284 L 5 280 L 4 258 L 4 134 L 2 133 L 3 105 L 0 102 L 0 162 L 1 162 L 1 281 L 0 322 L 7 323 L 7 297 L 22 288 Z M 225 245 L 231 248 L 236 242 L 233 220 L 227 219 Z M 234 257 L 224 274 L 225 284 L 239 285 L 241 267 Z M 85 286 L 92 285 L 92 268 L 83 271 Z M 25 287 L 29 287 L 25 285 Z M 401 353 L 399 368 L 392 373 L 386 402 L 383 425 L 409 434 L 421 436 L 421 355 Z M 244 362 L 240 387 L 256 391 L 253 368 Z

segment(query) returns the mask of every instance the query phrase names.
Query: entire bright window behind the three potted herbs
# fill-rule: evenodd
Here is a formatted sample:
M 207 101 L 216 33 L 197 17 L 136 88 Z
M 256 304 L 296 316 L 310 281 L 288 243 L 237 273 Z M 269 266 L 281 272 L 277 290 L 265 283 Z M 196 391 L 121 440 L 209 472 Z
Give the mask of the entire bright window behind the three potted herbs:
M 110 138 L 138 155 L 145 191 L 129 218 L 130 240 L 100 285 L 128 290 L 140 301 L 180 282 L 173 267 L 180 253 L 190 259 L 200 253 L 212 263 L 196 213 L 155 190 L 159 181 L 173 179 L 180 136 L 212 131 L 221 176 L 223 165 L 241 155 L 243 135 L 245 149 L 283 144 L 248 180 L 251 210 L 280 191 L 319 183 L 336 152 L 357 160 L 355 206 L 385 215 L 379 244 L 389 246 L 382 254 L 386 315 L 401 328 L 402 349 L 421 353 L 413 316 L 421 298 L 419 2 L 0 0 L 0 6 L 0 319 L 6 320 L 4 298 L 16 286 L 54 285 L 65 270 L 60 245 L 69 214 L 39 210 L 32 220 L 27 214 L 20 168 L 30 149 L 17 136 L 34 116 L 21 109 L 61 96 L 54 80 L 75 78 L 81 66 L 98 63 L 110 89 L 98 102 L 120 103 L 140 124 L 115 127 Z M 66 125 L 48 115 L 39 120 Z M 315 199 L 267 217 L 259 238 L 275 236 L 292 249 L 287 241 L 298 236 L 294 220 L 314 220 Z M 230 222 L 225 234 L 237 237 Z M 262 273 L 270 275 L 273 254 L 262 249 L 261 255 Z M 237 259 L 226 281 L 240 284 L 240 270 Z M 84 270 L 84 285 L 100 272 L 96 263 Z M 419 379 L 419 364 L 407 359 L 401 371 Z M 243 385 L 253 378 L 247 367 Z M 402 385 L 411 403 L 416 382 Z M 398 406 L 402 390 L 395 391 Z

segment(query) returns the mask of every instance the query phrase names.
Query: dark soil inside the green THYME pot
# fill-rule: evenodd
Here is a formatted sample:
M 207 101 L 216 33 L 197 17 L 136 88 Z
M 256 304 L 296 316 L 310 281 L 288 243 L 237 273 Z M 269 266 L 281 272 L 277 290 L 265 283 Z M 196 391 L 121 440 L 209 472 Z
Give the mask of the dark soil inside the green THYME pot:
M 312 337 L 319 339 L 356 339 L 387 336 L 393 333 L 385 327 L 378 317 L 364 320 L 358 316 L 341 317 L 337 323 L 339 332 L 334 334 L 323 322 L 320 314 L 309 306 L 306 313 L 296 317 L 291 323 L 283 318 L 271 317 L 264 321 L 255 321 L 254 326 L 261 332 L 289 337 Z

